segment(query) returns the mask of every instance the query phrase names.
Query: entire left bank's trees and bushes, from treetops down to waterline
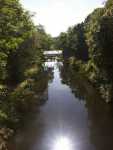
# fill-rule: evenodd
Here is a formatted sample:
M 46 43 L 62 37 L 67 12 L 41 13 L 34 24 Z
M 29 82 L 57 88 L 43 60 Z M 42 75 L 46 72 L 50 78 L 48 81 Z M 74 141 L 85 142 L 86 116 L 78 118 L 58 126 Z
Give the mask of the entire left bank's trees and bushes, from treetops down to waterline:
M 0 150 L 47 88 L 43 50 L 51 37 L 32 17 L 19 0 L 0 0 Z

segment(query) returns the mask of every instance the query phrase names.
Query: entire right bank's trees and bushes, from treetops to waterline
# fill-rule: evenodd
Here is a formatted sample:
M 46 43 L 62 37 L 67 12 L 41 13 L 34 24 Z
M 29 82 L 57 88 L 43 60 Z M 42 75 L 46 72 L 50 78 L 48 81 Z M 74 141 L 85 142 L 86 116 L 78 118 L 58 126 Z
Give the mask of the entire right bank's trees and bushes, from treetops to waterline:
M 65 62 L 83 73 L 106 102 L 113 101 L 113 1 L 57 37 Z

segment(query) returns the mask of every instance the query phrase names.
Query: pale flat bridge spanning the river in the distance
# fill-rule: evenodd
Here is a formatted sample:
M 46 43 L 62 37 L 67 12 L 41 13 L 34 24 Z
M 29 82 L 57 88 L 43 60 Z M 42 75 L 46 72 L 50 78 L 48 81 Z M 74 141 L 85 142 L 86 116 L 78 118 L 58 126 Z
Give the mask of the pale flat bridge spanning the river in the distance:
M 44 51 L 44 55 L 46 59 L 55 59 L 62 57 L 62 50 L 48 50 Z

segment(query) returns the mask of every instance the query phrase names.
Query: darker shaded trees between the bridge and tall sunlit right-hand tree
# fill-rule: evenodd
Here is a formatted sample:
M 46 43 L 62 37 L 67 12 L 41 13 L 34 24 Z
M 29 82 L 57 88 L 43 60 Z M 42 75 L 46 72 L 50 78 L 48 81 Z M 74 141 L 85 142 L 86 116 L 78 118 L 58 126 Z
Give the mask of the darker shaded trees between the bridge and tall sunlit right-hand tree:
M 56 39 L 56 45 L 58 49 L 63 50 L 64 58 L 74 56 L 83 61 L 88 59 L 83 27 L 83 23 L 70 27 L 66 33 L 61 33 Z

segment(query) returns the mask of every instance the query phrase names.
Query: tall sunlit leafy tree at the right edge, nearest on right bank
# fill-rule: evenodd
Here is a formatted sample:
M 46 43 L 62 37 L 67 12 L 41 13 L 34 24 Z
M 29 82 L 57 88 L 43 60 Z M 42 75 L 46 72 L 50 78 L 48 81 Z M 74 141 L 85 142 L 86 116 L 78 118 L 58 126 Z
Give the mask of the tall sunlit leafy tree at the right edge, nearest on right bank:
M 90 60 L 89 78 L 95 81 L 107 101 L 112 99 L 113 87 L 113 3 L 108 0 L 104 8 L 96 9 L 85 20 L 86 42 Z M 91 63 L 90 63 L 91 62 Z M 109 88 L 110 87 L 110 88 Z M 107 93 L 107 94 L 106 94 Z M 109 95 L 109 94 L 111 95 Z M 106 96 L 107 95 L 107 96 Z

